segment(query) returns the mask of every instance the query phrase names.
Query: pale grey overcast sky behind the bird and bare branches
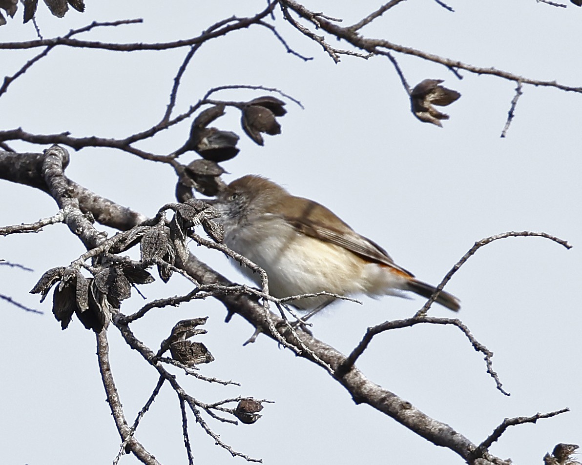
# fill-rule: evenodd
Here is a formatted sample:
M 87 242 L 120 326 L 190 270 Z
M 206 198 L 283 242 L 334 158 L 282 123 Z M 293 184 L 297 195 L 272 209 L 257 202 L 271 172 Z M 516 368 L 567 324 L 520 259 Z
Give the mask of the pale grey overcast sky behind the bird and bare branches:
M 365 3 L 365 4 L 364 4 Z M 453 0 L 450 13 L 434 1 L 411 0 L 366 27 L 382 37 L 441 56 L 495 66 L 536 79 L 582 86 L 582 9 L 552 8 L 533 0 L 492 0 L 466 5 Z M 196 36 L 231 15 L 250 16 L 264 8 L 252 2 L 98 2 L 86 13 L 64 19 L 38 6 L 45 38 L 97 21 L 143 17 L 144 23 L 97 28 L 79 38 L 108 42 L 171 41 Z M 307 8 L 351 24 L 378 7 L 375 2 L 310 1 Z M 293 194 L 327 205 L 363 235 L 375 240 L 418 278 L 437 284 L 483 237 L 508 230 L 544 231 L 569 240 L 566 250 L 549 240 L 504 239 L 481 249 L 453 277 L 449 292 L 462 300 L 459 317 L 494 353 L 503 396 L 486 372 L 480 353 L 455 328 L 416 326 L 374 339 L 359 361 L 372 381 L 409 400 L 428 415 L 480 443 L 505 417 L 530 416 L 570 407 L 572 411 L 537 424 L 510 428 L 491 452 L 516 464 L 541 463 L 558 442 L 582 442 L 580 381 L 580 283 L 582 282 L 582 95 L 552 88 L 524 87 L 508 137 L 500 139 L 516 84 L 461 72 L 418 58 L 396 55 L 409 84 L 445 79 L 462 94 L 445 109 L 443 129 L 420 123 L 389 61 L 345 57 L 339 65 L 276 13 L 275 25 L 303 62 L 287 54 L 270 31 L 257 26 L 205 44 L 183 77 L 177 112 L 186 111 L 210 87 L 262 84 L 299 99 L 280 118 L 282 134 L 258 147 L 240 130 L 240 113 L 229 110 L 215 125 L 238 132 L 241 152 L 223 167 L 226 181 L 260 173 Z M 0 27 L 0 40 L 36 38 L 22 11 Z M 331 41 L 345 48 L 345 44 Z M 39 49 L 3 51 L 0 76 L 12 75 Z M 70 131 L 73 136 L 123 137 L 158 122 L 173 77 L 187 49 L 165 52 L 106 52 L 58 47 L 16 80 L 0 97 L 0 128 L 31 133 Z M 262 92 L 228 91 L 223 100 L 250 100 Z M 275 95 L 276 97 L 277 95 Z M 168 154 L 186 140 L 190 121 L 140 145 Z M 45 146 L 11 142 L 18 151 Z M 88 189 L 145 215 L 175 200 L 169 166 L 108 149 L 70 150 L 66 174 Z M 196 154 L 186 154 L 183 162 Z M 51 216 L 56 204 L 29 187 L 0 183 L 0 223 L 33 222 Z M 218 253 L 193 247 L 218 271 L 243 278 Z M 119 449 L 95 357 L 95 338 L 77 320 L 62 332 L 43 304 L 28 294 L 41 274 L 68 265 L 83 247 L 66 226 L 38 235 L 0 239 L 0 258 L 34 272 L 0 267 L 0 293 L 10 294 L 44 315 L 25 313 L 0 301 L 0 457 L 6 464 L 111 463 Z M 185 294 L 179 276 L 168 286 L 142 286 L 153 299 Z M 342 302 L 314 318 L 314 335 L 349 353 L 367 326 L 412 315 L 423 300 L 385 297 Z M 143 305 L 134 295 L 130 313 Z M 449 317 L 442 307 L 433 315 Z M 133 326 L 153 347 L 183 318 L 210 317 L 200 338 L 216 360 L 202 367 L 208 376 L 242 386 L 208 386 L 180 381 L 204 402 L 246 395 L 274 400 L 254 425 L 235 427 L 210 420 L 236 450 L 265 464 L 463 463 L 368 406 L 356 406 L 324 370 L 278 349 L 267 337 L 242 343 L 252 333 L 240 317 L 224 324 L 225 309 L 207 300 L 152 311 Z M 109 331 L 111 363 L 128 421 L 154 388 L 157 377 L 132 353 L 115 328 Z M 164 465 L 187 463 L 179 402 L 164 386 L 136 437 Z M 197 464 L 243 463 L 214 445 L 190 417 Z M 580 457 L 580 456 L 579 456 Z M 124 456 L 122 464 L 137 463 Z

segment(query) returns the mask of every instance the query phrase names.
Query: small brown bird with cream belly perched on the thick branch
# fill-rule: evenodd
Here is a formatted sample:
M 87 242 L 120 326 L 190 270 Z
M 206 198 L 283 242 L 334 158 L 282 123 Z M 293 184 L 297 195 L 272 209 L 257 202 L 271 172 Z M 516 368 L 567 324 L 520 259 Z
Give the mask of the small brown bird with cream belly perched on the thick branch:
M 278 298 L 329 292 L 340 296 L 402 296 L 411 291 L 430 297 L 435 288 L 395 264 L 382 247 L 359 235 L 332 211 L 295 197 L 261 176 L 230 183 L 214 204 L 221 212 L 224 242 L 267 272 L 269 292 Z M 257 284 L 251 269 L 244 274 Z M 301 310 L 319 309 L 330 296 L 293 300 Z M 441 291 L 437 302 L 459 310 L 459 300 Z

